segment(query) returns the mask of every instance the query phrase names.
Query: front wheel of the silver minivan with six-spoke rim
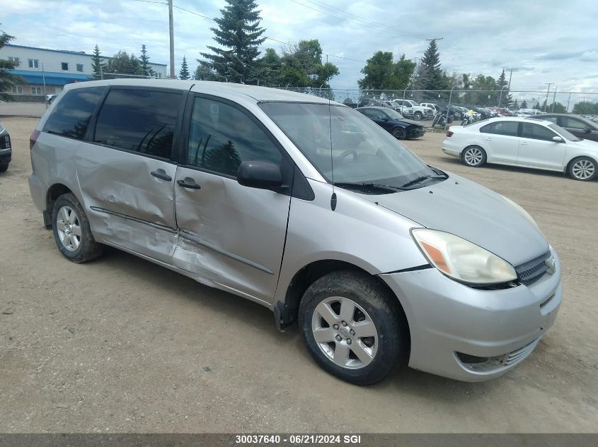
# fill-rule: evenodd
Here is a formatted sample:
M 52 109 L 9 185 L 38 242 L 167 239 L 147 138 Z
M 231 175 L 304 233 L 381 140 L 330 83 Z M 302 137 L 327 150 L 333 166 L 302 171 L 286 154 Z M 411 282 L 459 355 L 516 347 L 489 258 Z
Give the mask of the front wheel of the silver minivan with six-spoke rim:
M 408 358 L 403 309 L 363 273 L 343 270 L 316 280 L 301 299 L 299 326 L 316 363 L 350 383 L 381 381 Z

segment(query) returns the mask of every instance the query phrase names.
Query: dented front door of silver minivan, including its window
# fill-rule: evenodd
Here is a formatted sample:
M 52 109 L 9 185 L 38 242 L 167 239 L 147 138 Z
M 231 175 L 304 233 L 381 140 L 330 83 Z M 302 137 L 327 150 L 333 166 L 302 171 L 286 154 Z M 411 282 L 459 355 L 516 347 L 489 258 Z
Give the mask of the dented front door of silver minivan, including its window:
M 179 239 L 173 264 L 207 285 L 271 302 L 275 294 L 290 196 L 241 186 L 243 161 L 289 162 L 263 125 L 229 102 L 195 97 L 185 159 L 176 171 Z M 292 169 L 291 169 L 292 171 Z

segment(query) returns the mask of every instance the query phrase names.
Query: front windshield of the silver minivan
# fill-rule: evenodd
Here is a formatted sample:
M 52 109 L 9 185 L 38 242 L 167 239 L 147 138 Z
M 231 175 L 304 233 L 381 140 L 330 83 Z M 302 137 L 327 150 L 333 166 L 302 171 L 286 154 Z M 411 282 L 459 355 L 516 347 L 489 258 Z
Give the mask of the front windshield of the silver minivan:
M 349 107 L 298 102 L 260 107 L 330 183 L 400 188 L 429 179 L 409 185 L 417 188 L 439 179 L 390 133 Z

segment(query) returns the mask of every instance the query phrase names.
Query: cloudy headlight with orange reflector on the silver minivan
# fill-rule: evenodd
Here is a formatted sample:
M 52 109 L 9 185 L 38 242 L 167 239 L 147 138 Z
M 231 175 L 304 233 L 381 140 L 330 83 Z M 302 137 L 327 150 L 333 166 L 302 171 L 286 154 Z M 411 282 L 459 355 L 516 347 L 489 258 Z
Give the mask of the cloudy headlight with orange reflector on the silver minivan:
M 517 279 L 510 263 L 459 236 L 425 228 L 411 235 L 432 266 L 456 281 L 490 285 Z

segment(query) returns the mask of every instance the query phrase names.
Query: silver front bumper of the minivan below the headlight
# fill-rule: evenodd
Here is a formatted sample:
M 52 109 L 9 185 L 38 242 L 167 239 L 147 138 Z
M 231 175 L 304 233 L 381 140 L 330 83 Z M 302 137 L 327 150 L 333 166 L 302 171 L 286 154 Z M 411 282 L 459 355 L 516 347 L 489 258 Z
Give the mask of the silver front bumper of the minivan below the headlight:
M 502 376 L 522 362 L 553 326 L 562 299 L 560 259 L 551 251 L 555 273 L 529 287 L 476 290 L 436 268 L 380 275 L 401 300 L 408 319 L 409 366 L 476 382 Z M 471 366 L 462 354 L 493 361 Z

